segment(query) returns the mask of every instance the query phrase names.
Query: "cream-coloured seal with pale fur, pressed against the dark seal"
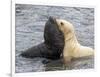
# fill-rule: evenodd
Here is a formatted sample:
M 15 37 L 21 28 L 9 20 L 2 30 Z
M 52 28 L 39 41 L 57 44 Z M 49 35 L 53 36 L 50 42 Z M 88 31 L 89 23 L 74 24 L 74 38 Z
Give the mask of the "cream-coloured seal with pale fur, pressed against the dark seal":
M 63 49 L 64 63 L 70 62 L 72 58 L 79 58 L 94 55 L 94 50 L 79 44 L 75 36 L 73 25 L 65 20 L 56 19 L 58 28 L 64 34 L 65 46 Z

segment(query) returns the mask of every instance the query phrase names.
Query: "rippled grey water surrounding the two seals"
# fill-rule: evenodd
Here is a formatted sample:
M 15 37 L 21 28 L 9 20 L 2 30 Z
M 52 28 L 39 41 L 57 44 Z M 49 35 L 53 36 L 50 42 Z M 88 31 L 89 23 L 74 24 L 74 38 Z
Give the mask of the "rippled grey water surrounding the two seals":
M 43 64 L 44 58 L 23 58 L 19 54 L 43 39 L 45 22 L 49 16 L 63 18 L 74 24 L 77 38 L 82 45 L 94 48 L 94 9 L 61 6 L 36 6 L 16 4 L 16 73 L 65 70 L 61 60 Z M 94 58 L 76 59 L 66 68 L 94 68 Z

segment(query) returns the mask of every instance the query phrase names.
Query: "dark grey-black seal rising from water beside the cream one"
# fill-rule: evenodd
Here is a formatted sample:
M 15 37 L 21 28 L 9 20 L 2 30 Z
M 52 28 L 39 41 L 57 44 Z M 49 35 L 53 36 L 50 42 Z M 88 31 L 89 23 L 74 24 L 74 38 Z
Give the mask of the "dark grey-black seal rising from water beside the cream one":
M 64 36 L 56 25 L 55 18 L 49 17 L 45 24 L 44 42 L 27 49 L 21 55 L 27 58 L 59 59 L 64 47 Z

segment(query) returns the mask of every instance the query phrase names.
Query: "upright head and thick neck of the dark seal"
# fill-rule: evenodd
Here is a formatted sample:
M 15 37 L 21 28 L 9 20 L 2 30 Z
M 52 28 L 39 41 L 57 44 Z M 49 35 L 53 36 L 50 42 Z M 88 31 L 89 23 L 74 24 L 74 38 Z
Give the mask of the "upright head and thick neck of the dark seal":
M 49 17 L 45 24 L 44 29 L 45 43 L 55 51 L 62 51 L 64 47 L 64 36 L 63 33 L 58 29 L 56 18 Z

